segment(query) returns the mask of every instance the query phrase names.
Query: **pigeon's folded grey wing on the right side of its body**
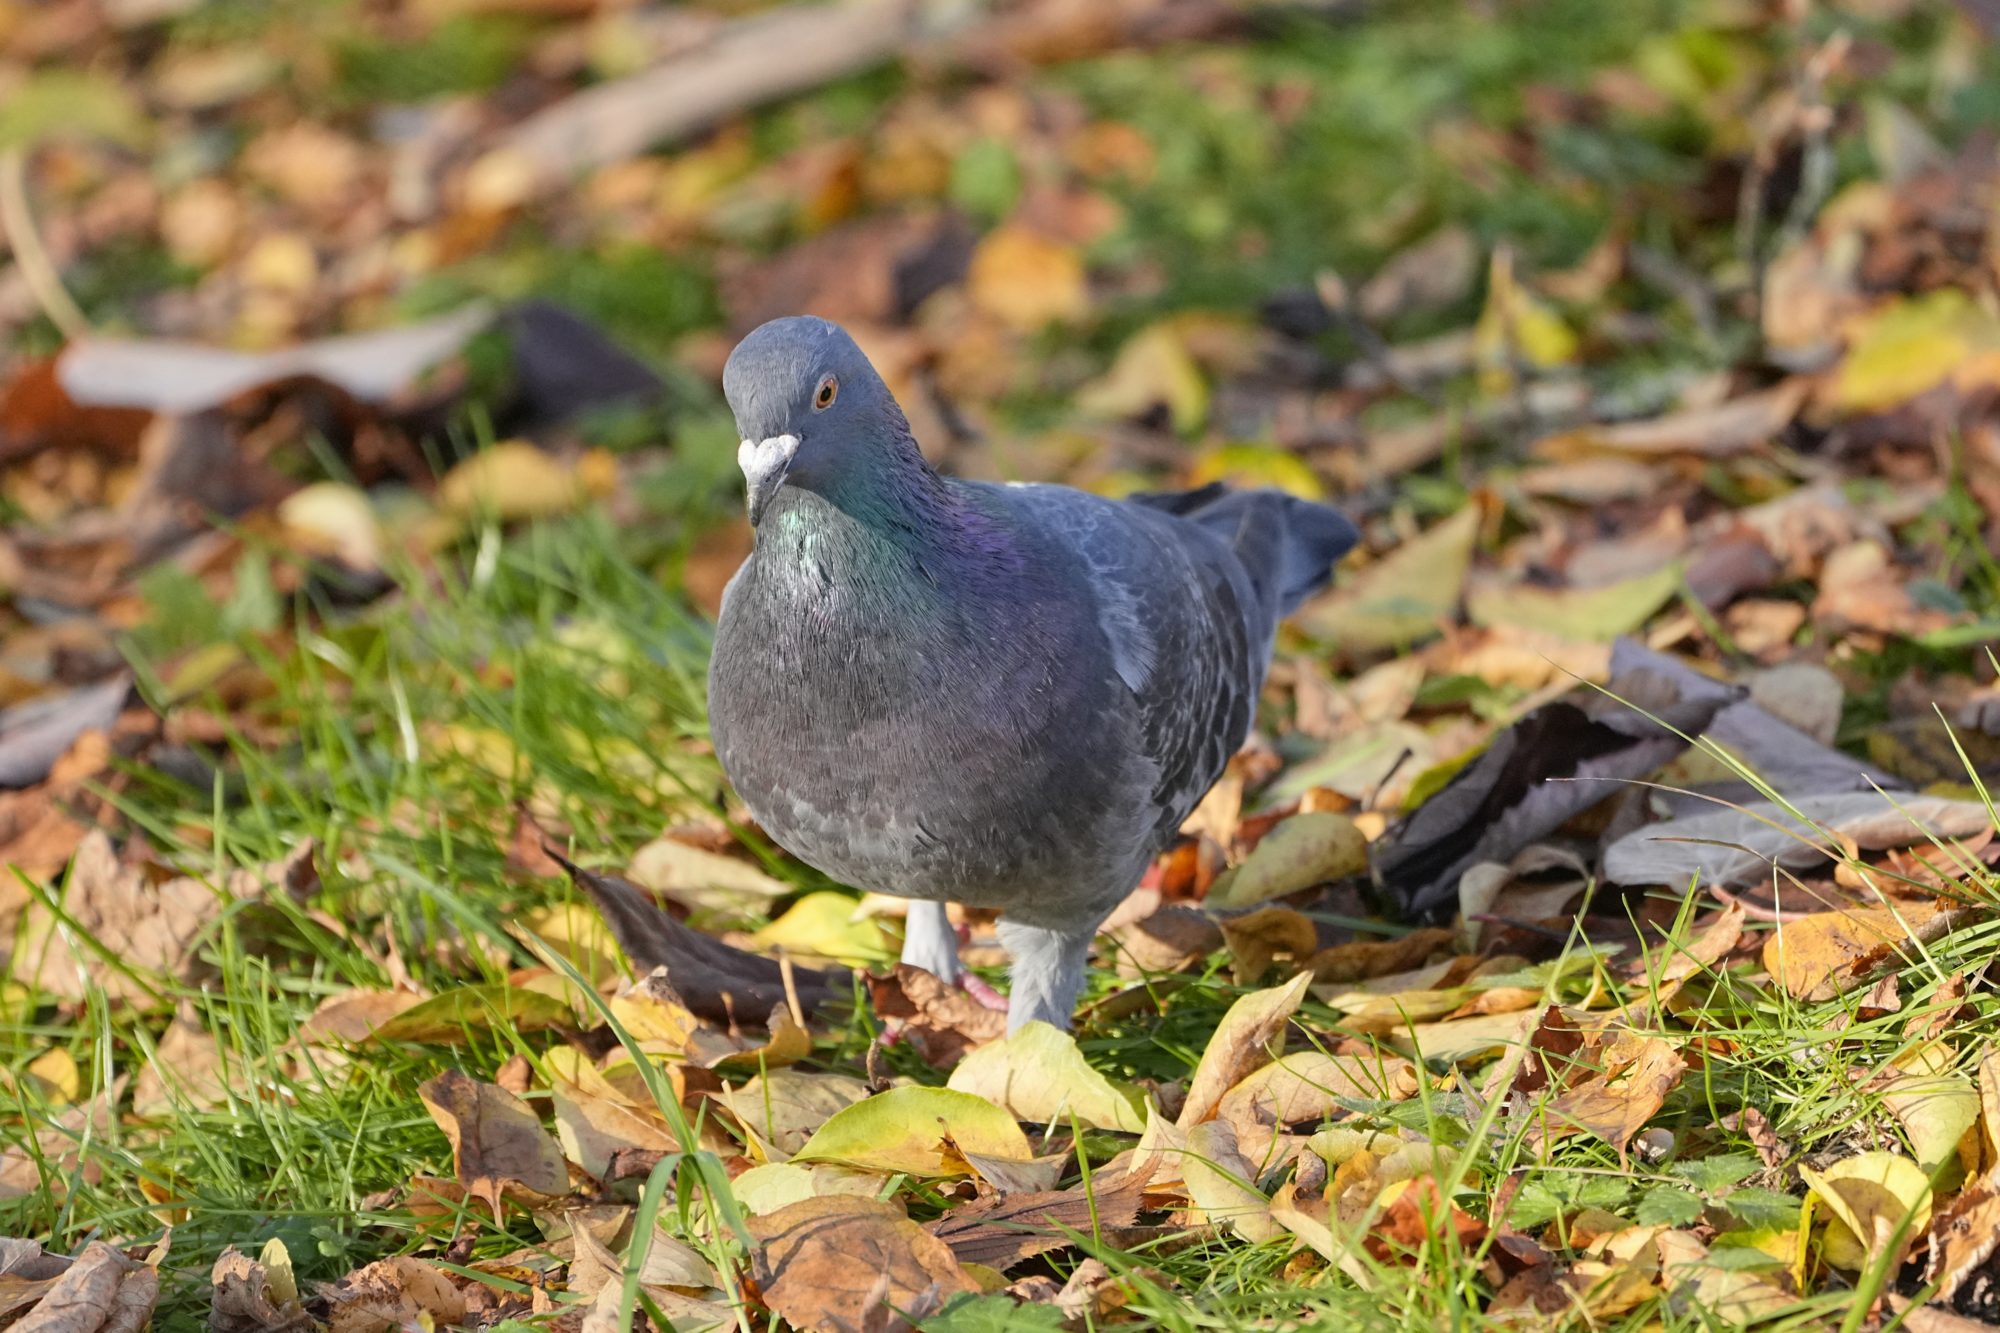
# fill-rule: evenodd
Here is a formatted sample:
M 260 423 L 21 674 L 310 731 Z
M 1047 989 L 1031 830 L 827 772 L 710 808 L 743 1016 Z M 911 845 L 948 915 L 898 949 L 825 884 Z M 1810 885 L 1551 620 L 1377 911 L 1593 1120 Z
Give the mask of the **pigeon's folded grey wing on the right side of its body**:
M 1082 570 L 1132 693 L 1164 843 L 1250 735 L 1274 616 L 1242 560 L 1198 524 L 1066 486 L 1004 490 Z

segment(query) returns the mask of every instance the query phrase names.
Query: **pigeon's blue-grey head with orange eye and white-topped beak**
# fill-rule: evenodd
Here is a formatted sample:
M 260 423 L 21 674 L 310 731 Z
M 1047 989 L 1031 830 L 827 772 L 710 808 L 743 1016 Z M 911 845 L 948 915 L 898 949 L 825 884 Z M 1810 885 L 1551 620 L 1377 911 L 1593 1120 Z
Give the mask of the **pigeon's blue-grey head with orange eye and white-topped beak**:
M 854 338 L 810 314 L 770 320 L 738 342 L 722 392 L 742 438 L 736 464 L 752 524 L 786 482 L 816 488 L 908 430 Z

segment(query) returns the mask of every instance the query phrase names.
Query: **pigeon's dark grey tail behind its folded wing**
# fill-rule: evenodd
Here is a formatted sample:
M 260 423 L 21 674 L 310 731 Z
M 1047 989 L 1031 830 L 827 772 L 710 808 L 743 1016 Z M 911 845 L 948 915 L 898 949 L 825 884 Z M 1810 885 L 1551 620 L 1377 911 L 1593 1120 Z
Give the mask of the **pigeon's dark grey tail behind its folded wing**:
M 1334 576 L 1360 532 L 1346 514 L 1282 490 L 1198 490 L 1134 494 L 1132 500 L 1198 522 L 1230 544 L 1276 614 L 1288 616 Z

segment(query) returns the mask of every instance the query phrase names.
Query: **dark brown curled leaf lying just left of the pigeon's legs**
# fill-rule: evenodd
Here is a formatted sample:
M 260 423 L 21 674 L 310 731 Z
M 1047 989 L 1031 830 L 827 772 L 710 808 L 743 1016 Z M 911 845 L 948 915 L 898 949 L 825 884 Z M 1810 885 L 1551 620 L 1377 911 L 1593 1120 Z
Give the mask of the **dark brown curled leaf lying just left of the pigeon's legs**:
M 548 855 L 604 913 L 612 937 L 632 961 L 632 971 L 646 975 L 664 967 L 674 995 L 696 1017 L 710 1023 L 740 1023 L 790 1005 L 786 969 L 774 959 L 744 953 L 674 921 L 628 879 L 586 871 L 554 849 L 548 849 Z M 852 995 L 852 981 L 842 967 L 824 971 L 792 967 L 790 973 L 792 993 L 806 1013 Z

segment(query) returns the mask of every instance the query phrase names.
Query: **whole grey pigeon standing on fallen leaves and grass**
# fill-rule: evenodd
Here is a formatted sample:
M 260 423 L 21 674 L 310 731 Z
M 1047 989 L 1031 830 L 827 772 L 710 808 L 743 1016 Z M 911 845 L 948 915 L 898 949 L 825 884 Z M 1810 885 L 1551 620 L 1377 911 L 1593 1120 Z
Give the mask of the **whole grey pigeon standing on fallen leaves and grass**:
M 906 963 L 964 981 L 946 903 L 998 909 L 1008 1031 L 1068 1027 L 1354 526 L 1278 490 L 940 476 L 820 318 L 750 332 L 722 390 L 756 532 L 708 669 L 724 775 L 806 865 L 912 899 Z

